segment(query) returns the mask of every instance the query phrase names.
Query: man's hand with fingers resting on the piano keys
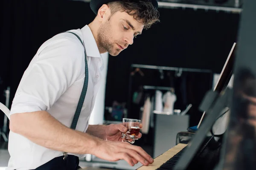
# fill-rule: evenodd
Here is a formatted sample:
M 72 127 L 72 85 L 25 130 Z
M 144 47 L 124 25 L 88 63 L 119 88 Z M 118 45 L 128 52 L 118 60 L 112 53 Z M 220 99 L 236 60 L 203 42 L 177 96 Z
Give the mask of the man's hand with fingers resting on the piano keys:
M 141 147 L 128 142 L 97 141 L 97 147 L 93 149 L 93 155 L 108 161 L 118 161 L 124 159 L 131 166 L 138 161 L 143 165 L 153 163 L 151 158 Z

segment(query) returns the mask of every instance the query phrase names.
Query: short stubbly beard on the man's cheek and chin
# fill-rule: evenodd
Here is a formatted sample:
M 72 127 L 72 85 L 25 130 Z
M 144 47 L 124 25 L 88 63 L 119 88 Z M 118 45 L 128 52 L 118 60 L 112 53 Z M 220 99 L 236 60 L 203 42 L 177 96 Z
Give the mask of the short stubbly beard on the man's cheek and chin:
M 114 46 L 115 43 L 113 43 L 111 38 L 111 25 L 109 20 L 102 23 L 102 25 L 99 27 L 97 37 L 99 48 L 103 49 L 104 51 L 108 51 L 111 56 L 117 56 L 121 52 L 121 49 Z

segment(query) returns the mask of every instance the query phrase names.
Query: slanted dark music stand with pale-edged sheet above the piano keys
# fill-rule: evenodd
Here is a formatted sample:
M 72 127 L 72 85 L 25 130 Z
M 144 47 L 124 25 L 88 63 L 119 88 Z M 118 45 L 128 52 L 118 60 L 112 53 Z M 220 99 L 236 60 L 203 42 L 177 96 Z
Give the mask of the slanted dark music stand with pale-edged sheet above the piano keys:
M 215 86 L 214 91 L 211 91 L 209 96 L 216 96 L 215 99 L 207 99 L 213 103 L 209 103 L 209 109 L 207 112 L 207 117 L 204 119 L 204 122 L 201 125 L 201 128 L 197 130 L 195 136 L 193 136 L 192 140 L 188 143 L 184 153 L 181 155 L 179 161 L 174 167 L 174 170 L 186 170 L 189 166 L 190 162 L 198 152 L 199 147 L 204 141 L 207 133 L 209 132 L 212 125 L 215 123 L 216 119 L 219 116 L 219 113 L 230 103 L 230 96 L 232 91 L 227 88 L 227 85 L 230 81 L 230 78 L 233 73 L 233 62 L 234 62 L 234 47 L 236 43 L 233 44 L 233 47 L 230 51 L 230 54 L 227 58 L 227 61 L 224 65 L 224 68 L 221 71 L 221 76 Z

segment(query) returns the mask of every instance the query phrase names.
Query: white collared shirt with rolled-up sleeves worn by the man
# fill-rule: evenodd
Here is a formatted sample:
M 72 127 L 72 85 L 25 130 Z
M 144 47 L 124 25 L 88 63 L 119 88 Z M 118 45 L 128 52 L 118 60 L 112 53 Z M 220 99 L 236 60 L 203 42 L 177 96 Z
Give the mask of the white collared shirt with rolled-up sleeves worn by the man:
M 88 88 L 76 126 L 76 130 L 85 132 L 101 84 L 103 63 L 88 26 L 70 31 L 84 41 L 87 52 Z M 41 45 L 24 72 L 10 114 L 47 111 L 70 127 L 84 85 L 84 73 L 84 48 L 79 39 L 71 33 L 55 35 Z M 9 133 L 8 150 L 11 158 L 7 170 L 35 169 L 63 155 L 60 151 L 42 147 L 12 131 Z

